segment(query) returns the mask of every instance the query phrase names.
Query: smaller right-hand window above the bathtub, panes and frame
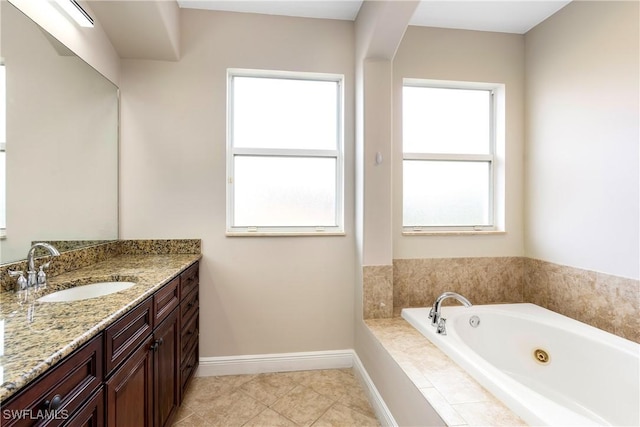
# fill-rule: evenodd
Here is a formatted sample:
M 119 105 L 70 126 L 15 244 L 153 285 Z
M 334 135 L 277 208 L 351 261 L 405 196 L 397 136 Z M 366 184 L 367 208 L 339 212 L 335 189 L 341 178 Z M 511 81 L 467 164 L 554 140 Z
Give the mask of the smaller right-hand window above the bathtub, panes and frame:
M 495 89 L 405 80 L 403 231 L 496 228 Z

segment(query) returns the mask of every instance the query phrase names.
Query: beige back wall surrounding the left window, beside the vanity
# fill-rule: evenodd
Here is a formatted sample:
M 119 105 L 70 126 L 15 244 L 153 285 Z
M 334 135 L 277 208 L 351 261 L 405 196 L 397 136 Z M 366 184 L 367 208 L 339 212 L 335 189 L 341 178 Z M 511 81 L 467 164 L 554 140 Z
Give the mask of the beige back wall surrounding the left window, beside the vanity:
M 202 238 L 203 357 L 353 348 L 353 23 L 182 11 L 179 62 L 123 60 L 122 238 Z M 346 236 L 225 237 L 226 70 L 345 75 Z

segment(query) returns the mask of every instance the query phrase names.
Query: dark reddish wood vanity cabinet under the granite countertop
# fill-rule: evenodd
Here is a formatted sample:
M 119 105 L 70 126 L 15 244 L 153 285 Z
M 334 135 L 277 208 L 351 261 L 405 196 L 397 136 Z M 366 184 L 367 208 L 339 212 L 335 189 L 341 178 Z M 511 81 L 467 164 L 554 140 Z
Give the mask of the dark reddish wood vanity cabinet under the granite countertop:
M 188 267 L 3 403 L 0 424 L 170 426 L 198 366 L 198 268 Z M 16 416 L 38 411 L 48 419 Z

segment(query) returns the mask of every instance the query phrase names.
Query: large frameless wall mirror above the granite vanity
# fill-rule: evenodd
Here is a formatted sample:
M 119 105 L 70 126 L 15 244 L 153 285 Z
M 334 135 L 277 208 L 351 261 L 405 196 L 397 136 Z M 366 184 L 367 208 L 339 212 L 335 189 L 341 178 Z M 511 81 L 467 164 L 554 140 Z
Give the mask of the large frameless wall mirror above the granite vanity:
M 118 88 L 0 2 L 0 264 L 118 238 Z

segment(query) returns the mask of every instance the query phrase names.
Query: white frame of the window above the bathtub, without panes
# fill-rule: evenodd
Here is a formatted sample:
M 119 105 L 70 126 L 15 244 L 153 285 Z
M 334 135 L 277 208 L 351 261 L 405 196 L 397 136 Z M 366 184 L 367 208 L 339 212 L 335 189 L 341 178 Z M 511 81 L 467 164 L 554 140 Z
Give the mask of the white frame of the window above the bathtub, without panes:
M 427 79 L 403 79 L 404 87 L 428 87 L 428 88 L 442 88 L 442 89 L 462 89 L 462 90 L 485 90 L 490 93 L 490 109 L 489 109 L 489 154 L 458 154 L 458 153 L 410 153 L 405 152 L 402 149 L 402 164 L 405 161 L 451 161 L 451 162 L 483 162 L 489 164 L 489 194 L 488 194 L 488 223 L 487 224 L 468 224 L 468 225 L 405 225 L 404 215 L 402 216 L 402 233 L 406 235 L 411 234 L 440 234 L 440 233 L 486 233 L 503 231 L 503 226 L 500 224 L 500 218 L 503 214 L 499 213 L 503 209 L 504 202 L 503 197 L 497 197 L 497 184 L 498 175 L 503 174 L 503 168 L 497 170 L 498 163 L 498 122 L 499 120 L 499 105 L 497 99 L 497 92 L 502 92 L 502 98 L 504 97 L 504 85 L 495 83 L 479 83 L 479 82 L 460 82 L 460 81 L 442 81 L 442 80 L 427 80 Z M 404 191 L 404 181 L 402 185 Z M 499 201 L 502 200 L 502 201 Z M 404 210 L 404 201 L 402 203 L 402 209 Z

